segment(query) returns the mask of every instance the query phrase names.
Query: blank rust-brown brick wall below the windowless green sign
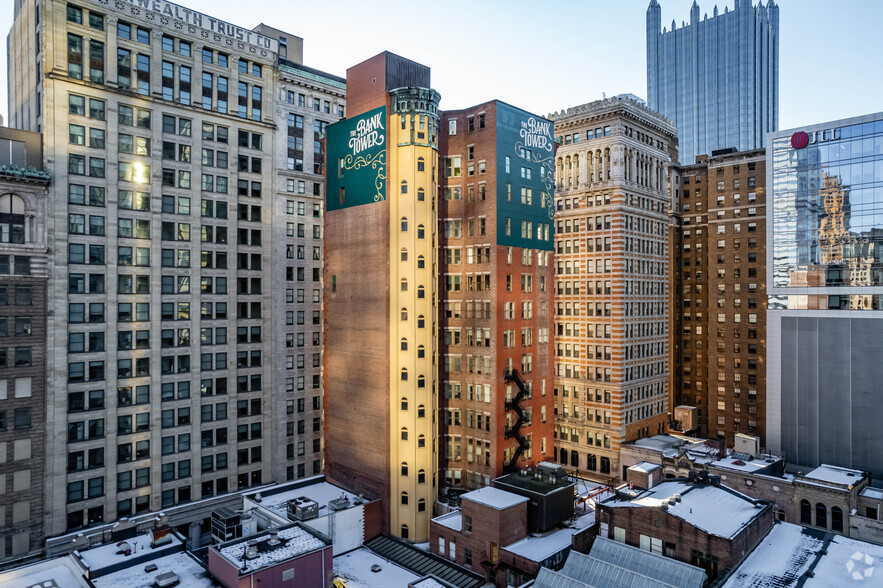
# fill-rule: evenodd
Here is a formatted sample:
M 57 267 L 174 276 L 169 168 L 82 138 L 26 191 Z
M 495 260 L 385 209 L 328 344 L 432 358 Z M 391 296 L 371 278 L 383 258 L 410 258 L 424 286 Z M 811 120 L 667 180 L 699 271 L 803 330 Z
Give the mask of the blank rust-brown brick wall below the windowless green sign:
M 325 474 L 389 495 L 389 204 L 325 215 Z

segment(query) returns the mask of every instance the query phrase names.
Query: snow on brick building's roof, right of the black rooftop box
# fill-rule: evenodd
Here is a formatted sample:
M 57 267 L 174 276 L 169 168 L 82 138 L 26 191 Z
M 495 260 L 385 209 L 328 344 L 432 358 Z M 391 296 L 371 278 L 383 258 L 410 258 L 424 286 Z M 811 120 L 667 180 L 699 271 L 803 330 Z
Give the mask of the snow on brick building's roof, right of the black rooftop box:
M 760 512 L 750 498 L 737 492 L 682 481 L 663 482 L 634 500 L 609 500 L 604 506 L 659 507 L 675 494 L 681 495 L 681 501 L 668 506 L 669 514 L 719 537 L 733 537 Z

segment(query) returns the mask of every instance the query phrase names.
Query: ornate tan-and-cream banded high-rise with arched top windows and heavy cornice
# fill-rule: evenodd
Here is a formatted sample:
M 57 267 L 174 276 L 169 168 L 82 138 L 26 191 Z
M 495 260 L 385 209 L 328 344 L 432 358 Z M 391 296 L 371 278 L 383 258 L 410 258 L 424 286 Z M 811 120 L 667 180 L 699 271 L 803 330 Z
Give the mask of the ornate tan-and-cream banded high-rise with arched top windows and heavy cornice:
M 555 452 L 625 479 L 619 447 L 664 431 L 674 125 L 635 97 L 553 115 Z

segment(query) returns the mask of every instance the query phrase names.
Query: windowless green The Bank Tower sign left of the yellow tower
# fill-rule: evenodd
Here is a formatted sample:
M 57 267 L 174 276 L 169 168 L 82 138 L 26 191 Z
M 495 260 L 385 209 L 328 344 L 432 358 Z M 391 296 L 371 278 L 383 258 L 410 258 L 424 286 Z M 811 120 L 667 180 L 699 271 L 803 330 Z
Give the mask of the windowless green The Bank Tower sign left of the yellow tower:
M 386 140 L 385 106 L 328 126 L 327 210 L 386 200 Z

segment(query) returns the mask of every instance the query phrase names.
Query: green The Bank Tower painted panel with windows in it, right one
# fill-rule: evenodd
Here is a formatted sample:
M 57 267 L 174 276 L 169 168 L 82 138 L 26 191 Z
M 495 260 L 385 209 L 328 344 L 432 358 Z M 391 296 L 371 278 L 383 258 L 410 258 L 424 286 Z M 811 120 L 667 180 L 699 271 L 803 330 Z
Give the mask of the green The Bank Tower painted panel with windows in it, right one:
M 555 216 L 552 121 L 497 108 L 497 245 L 551 251 Z

